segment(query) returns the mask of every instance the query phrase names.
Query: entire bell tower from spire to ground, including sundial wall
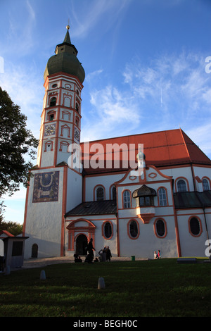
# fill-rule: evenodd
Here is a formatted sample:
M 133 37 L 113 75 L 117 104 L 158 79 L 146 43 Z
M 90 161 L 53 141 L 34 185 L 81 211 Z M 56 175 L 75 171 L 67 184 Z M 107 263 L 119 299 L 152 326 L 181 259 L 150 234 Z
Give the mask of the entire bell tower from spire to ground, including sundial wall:
M 80 142 L 84 68 L 70 41 L 70 26 L 44 71 L 44 102 L 37 166 L 27 187 L 25 258 L 65 254 L 65 213 L 82 202 L 82 173 L 68 166 L 68 146 Z

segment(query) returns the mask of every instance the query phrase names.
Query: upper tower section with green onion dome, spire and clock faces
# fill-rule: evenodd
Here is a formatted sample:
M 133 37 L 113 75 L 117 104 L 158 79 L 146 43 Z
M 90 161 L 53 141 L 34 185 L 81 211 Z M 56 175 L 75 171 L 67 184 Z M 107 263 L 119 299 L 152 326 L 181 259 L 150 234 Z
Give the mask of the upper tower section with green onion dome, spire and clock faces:
M 71 44 L 70 25 L 62 44 L 56 46 L 44 71 L 44 104 L 37 164 L 39 168 L 68 163 L 68 146 L 80 142 L 81 92 L 84 68 Z

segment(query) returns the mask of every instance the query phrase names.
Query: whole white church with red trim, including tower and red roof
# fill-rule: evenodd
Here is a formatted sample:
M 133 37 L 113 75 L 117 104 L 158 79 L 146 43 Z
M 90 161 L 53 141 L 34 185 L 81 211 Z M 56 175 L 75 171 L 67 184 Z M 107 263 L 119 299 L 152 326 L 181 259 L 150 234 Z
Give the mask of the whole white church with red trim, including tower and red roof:
M 205 256 L 210 159 L 181 129 L 80 142 L 85 73 L 69 27 L 55 52 L 27 187 L 25 258 L 85 255 L 91 238 L 96 255 L 109 246 L 113 256 Z

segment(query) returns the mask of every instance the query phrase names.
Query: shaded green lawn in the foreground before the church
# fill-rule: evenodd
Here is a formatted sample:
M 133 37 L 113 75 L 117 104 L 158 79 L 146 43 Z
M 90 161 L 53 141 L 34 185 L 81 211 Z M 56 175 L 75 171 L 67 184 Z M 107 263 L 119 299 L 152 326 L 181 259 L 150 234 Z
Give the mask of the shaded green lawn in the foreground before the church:
M 0 275 L 0 316 L 211 316 L 210 276 L 211 263 L 177 259 L 17 270 Z M 98 289 L 98 277 L 105 289 Z

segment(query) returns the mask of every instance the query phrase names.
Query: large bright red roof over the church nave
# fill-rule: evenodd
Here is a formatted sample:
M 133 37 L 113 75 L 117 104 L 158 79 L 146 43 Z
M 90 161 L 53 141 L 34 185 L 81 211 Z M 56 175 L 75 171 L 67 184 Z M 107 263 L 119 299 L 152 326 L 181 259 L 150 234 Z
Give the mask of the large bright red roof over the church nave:
M 155 165 L 155 167 L 158 168 L 163 166 L 181 165 L 188 163 L 211 166 L 210 158 L 208 158 L 181 129 L 96 140 L 94 142 L 89 142 L 89 149 L 94 144 L 101 144 L 103 146 L 103 153 L 99 154 L 98 151 L 96 151 L 96 153 L 98 153 L 99 159 L 102 160 L 106 160 L 106 158 L 110 158 L 112 160 L 115 159 L 115 153 L 106 154 L 107 144 L 118 144 L 119 146 L 124 144 L 122 146 L 126 146 L 128 151 L 129 146 L 132 146 L 131 144 L 135 144 L 135 156 L 139 153 L 138 144 L 143 144 L 143 153 L 146 156 L 146 165 Z M 90 159 L 91 156 L 94 155 L 94 153 L 92 155 L 87 155 L 84 146 L 86 146 L 86 143 L 81 143 L 82 163 L 85 159 Z M 106 168 L 105 161 L 104 168 L 84 168 L 84 170 L 87 174 L 127 170 L 129 167 L 126 168 L 123 162 L 124 152 L 125 151 L 120 151 L 119 168 L 115 168 L 113 166 L 112 168 L 108 169 Z

